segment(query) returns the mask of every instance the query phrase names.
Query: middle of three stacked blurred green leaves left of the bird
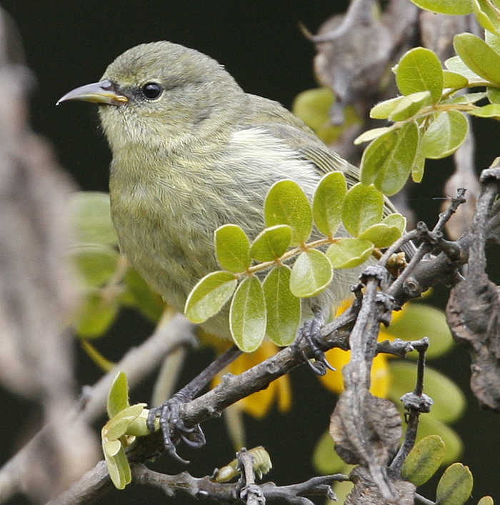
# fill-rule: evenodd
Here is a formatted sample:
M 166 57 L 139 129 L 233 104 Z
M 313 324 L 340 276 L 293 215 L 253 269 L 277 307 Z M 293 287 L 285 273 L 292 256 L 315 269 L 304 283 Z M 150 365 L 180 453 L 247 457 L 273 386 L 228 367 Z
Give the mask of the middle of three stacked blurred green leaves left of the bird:
M 104 286 L 116 272 L 119 252 L 101 244 L 74 246 L 69 251 L 71 260 L 81 274 L 86 286 Z

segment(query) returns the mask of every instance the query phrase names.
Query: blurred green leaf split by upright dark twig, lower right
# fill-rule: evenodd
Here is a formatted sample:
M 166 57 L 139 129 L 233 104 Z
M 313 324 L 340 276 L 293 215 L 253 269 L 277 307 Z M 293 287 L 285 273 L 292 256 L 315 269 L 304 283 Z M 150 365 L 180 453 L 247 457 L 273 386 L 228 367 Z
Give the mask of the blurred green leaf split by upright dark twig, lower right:
M 407 361 L 391 361 L 391 376 L 397 380 L 391 384 L 390 398 L 399 401 L 401 396 L 413 391 L 416 383 L 416 365 Z M 459 386 L 445 375 L 426 367 L 424 392 L 434 400 L 431 416 L 450 423 L 464 413 L 466 400 Z

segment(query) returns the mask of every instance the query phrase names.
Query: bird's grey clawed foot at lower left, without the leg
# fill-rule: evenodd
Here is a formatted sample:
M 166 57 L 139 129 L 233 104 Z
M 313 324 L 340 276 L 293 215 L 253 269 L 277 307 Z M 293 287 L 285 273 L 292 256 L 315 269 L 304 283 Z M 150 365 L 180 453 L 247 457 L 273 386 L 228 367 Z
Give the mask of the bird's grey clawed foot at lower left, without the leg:
M 194 448 L 199 448 L 205 444 L 205 435 L 199 424 L 196 424 L 196 426 L 192 428 L 188 428 L 179 415 L 181 405 L 190 400 L 190 398 L 180 394 L 179 391 L 178 394 L 172 396 L 172 398 L 166 401 L 163 405 L 150 409 L 148 419 L 146 421 L 149 431 L 154 433 L 154 421 L 157 417 L 159 417 L 161 434 L 163 436 L 166 451 L 168 451 L 169 454 L 177 461 L 184 464 L 188 464 L 189 461 L 181 458 L 181 456 L 177 454 L 176 446 L 173 440 L 174 438 L 180 438 L 186 442 L 186 444 Z

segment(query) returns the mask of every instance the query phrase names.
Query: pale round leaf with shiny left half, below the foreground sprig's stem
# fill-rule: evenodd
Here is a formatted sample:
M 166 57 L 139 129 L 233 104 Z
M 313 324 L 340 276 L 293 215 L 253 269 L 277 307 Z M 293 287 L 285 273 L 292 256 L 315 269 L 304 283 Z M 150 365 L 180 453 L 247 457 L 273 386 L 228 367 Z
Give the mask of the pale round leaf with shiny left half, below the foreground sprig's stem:
M 296 259 L 290 276 L 290 290 L 299 298 L 324 291 L 334 276 L 329 259 L 317 249 L 309 249 Z

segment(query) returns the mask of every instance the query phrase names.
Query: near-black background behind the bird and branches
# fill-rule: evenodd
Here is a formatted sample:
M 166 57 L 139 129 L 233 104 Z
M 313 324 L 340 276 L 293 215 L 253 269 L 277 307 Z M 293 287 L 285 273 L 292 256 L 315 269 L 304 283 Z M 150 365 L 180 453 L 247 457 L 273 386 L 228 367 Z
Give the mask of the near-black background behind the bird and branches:
M 89 104 L 56 107 L 67 91 L 96 81 L 106 66 L 131 46 L 166 39 L 198 49 L 221 62 L 245 91 L 266 96 L 291 106 L 301 91 L 316 86 L 312 72 L 314 47 L 301 34 L 304 23 L 313 33 L 334 12 L 344 11 L 347 1 L 207 1 L 170 0 L 141 2 L 106 0 L 3 0 L 1 6 L 11 14 L 24 43 L 26 60 L 36 76 L 31 99 L 34 129 L 52 144 L 61 165 L 81 189 L 107 191 L 110 154 L 99 131 L 97 114 Z M 498 124 L 482 121 L 487 140 L 479 141 L 476 166 L 482 168 L 498 154 Z M 481 132 L 478 132 L 479 138 Z M 485 135 L 485 134 L 482 134 Z M 483 145 L 486 144 L 486 145 Z M 424 183 L 414 189 L 411 203 L 418 219 L 429 226 L 436 221 L 443 181 L 451 174 L 451 164 L 433 164 Z M 495 279 L 498 281 L 498 279 Z M 444 306 L 446 289 L 437 289 L 431 299 Z M 151 333 L 152 326 L 132 313 L 124 314 L 114 326 L 114 337 L 106 339 L 100 349 L 111 359 L 119 359 L 125 349 L 139 343 Z M 194 367 L 208 362 L 210 356 L 196 354 Z M 499 417 L 481 411 L 469 391 L 469 358 L 455 349 L 432 366 L 451 376 L 466 393 L 469 407 L 463 419 L 454 426 L 464 440 L 461 461 L 474 474 L 474 499 L 484 494 L 500 496 L 500 450 L 497 446 Z M 302 367 L 304 368 L 304 367 Z M 181 379 L 193 375 L 189 372 Z M 94 364 L 79 354 L 80 386 L 91 384 L 99 376 Z M 271 453 L 274 469 L 269 478 L 276 484 L 291 484 L 315 474 L 311 465 L 311 447 L 324 432 L 333 409 L 334 396 L 321 389 L 306 370 L 292 375 L 294 411 L 282 415 L 274 411 L 264 421 L 246 419 L 249 446 L 262 444 Z M 144 384 L 134 391 L 132 401 L 147 401 L 149 387 Z M 314 391 L 314 393 L 313 393 Z M 2 429 L 0 430 L 3 464 L 28 435 L 26 424 L 36 426 L 36 406 L 26 404 L 0 390 Z M 297 415 L 303 407 L 306 415 Z M 30 421 L 31 420 L 31 421 Z M 7 426 L 9 423 L 10 426 Z M 208 444 L 193 452 L 185 446 L 181 456 L 192 459 L 189 471 L 195 476 L 211 474 L 213 466 L 226 464 L 234 451 L 221 434 L 221 420 L 204 425 Z M 169 473 L 184 470 L 164 456 L 156 468 Z M 435 484 L 434 484 L 435 489 Z M 427 494 L 430 499 L 434 496 Z M 126 504 L 151 499 L 160 503 L 159 491 L 131 486 L 114 491 L 100 504 Z M 471 502 L 473 502 L 472 500 Z M 319 501 L 321 503 L 322 501 Z M 12 504 L 24 503 L 21 499 Z

